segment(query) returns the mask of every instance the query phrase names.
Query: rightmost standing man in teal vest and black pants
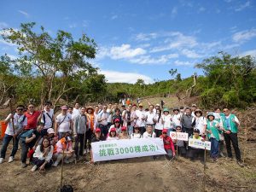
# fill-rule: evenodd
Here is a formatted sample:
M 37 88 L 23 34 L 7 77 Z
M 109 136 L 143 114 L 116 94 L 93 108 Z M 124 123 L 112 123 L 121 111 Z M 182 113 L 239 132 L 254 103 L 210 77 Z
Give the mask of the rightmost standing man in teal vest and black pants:
M 231 143 L 233 145 L 233 148 L 235 149 L 236 154 L 236 161 L 239 166 L 243 166 L 241 162 L 241 153 L 238 146 L 238 126 L 240 125 L 239 120 L 237 119 L 236 115 L 233 113 L 230 113 L 229 108 L 223 109 L 224 116 L 222 117 L 223 125 L 224 125 L 224 140 L 226 143 L 227 153 L 228 157 L 232 159 L 232 150 L 231 150 Z

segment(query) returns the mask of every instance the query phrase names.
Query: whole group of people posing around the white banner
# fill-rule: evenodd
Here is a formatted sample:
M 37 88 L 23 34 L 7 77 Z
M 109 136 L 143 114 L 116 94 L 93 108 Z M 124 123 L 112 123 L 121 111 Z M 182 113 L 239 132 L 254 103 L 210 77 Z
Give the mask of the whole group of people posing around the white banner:
M 15 113 L 9 113 L 5 119 L 7 129 L 3 137 L 0 164 L 5 160 L 9 143 L 13 148 L 8 162 L 15 159 L 21 148 L 21 167 L 26 167 L 26 159 L 33 164 L 32 172 L 58 166 L 63 160 L 72 163 L 84 158 L 90 152 L 90 143 L 114 139 L 139 139 L 161 137 L 167 157 L 176 155 L 176 150 L 184 157 L 195 160 L 202 158 L 202 149 L 189 147 L 188 142 L 172 140 L 171 131 L 186 132 L 189 138 L 211 142 L 211 158 L 217 161 L 224 157 L 224 143 L 229 160 L 232 159 L 231 143 L 235 149 L 236 160 L 241 163 L 237 131 L 240 125 L 236 115 L 229 108 L 215 108 L 214 112 L 203 115 L 195 104 L 191 108 L 163 108 L 163 103 L 148 102 L 144 108 L 142 102 L 122 105 L 119 103 L 98 103 L 95 107 L 61 107 L 61 113 L 55 115 L 51 102 L 45 102 L 41 111 L 35 110 L 30 103 L 27 108 L 18 105 Z M 86 156 L 86 155 L 85 155 Z

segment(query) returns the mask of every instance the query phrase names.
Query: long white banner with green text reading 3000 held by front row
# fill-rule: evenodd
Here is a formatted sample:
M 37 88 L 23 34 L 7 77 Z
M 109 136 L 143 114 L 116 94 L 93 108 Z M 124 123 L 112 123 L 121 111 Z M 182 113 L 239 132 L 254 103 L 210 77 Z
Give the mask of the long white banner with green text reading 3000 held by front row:
M 93 160 L 119 160 L 166 154 L 162 138 L 120 139 L 91 143 Z

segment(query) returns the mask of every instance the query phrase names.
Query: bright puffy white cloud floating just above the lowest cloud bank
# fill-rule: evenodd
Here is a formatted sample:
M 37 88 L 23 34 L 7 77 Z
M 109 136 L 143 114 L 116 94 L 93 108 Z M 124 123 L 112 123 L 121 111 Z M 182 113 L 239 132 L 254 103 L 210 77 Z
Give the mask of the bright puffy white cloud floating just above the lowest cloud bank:
M 137 55 L 144 55 L 146 54 L 146 50 L 143 48 L 136 48 L 131 49 L 130 44 L 122 44 L 121 46 L 112 47 L 110 49 L 110 57 L 113 60 L 119 60 L 119 59 L 130 59 Z

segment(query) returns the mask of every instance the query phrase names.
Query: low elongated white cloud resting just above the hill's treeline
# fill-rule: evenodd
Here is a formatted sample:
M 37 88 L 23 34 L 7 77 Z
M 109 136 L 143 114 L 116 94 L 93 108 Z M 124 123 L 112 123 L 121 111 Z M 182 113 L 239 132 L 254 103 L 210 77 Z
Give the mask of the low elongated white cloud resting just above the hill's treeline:
M 108 83 L 129 83 L 135 84 L 137 79 L 143 79 L 146 84 L 154 82 L 150 77 L 140 73 L 123 73 L 110 70 L 102 70 L 100 73 L 104 74 Z

